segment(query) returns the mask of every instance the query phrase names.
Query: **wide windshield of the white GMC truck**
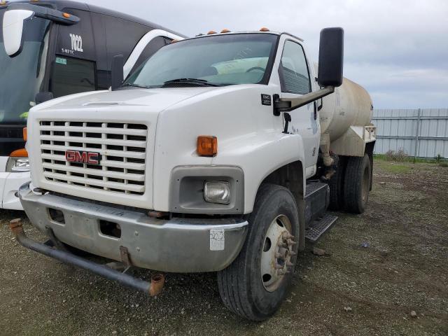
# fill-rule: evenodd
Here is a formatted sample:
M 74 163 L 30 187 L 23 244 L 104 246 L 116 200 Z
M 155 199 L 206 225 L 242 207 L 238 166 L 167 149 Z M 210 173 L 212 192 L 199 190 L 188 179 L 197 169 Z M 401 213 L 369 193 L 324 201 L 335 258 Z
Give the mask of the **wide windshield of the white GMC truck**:
M 274 34 L 228 34 L 167 45 L 124 85 L 163 87 L 169 81 L 198 85 L 267 84 L 277 41 Z

